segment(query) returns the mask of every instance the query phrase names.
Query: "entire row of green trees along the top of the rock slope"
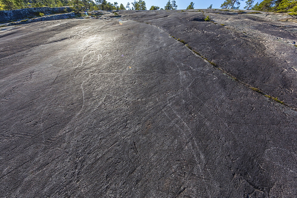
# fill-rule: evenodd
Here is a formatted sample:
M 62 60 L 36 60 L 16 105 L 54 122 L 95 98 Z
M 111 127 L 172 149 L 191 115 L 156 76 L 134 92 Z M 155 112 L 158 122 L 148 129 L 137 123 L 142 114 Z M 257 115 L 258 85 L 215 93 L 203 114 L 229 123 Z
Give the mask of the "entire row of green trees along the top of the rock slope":
M 239 9 L 241 1 L 244 0 L 225 0 L 221 5 L 223 9 Z M 0 10 L 21 9 L 28 7 L 63 7 L 73 6 L 76 11 L 81 7 L 86 10 L 146 10 L 146 3 L 143 0 L 127 3 L 126 6 L 118 4 L 118 2 L 107 2 L 106 0 L 0 0 Z M 208 7 L 212 8 L 212 4 Z M 150 10 L 162 10 L 159 6 L 151 6 Z M 168 0 L 164 6 L 165 10 L 176 10 L 175 0 Z M 194 9 L 194 3 L 191 2 L 187 9 Z M 257 2 L 255 0 L 247 0 L 244 9 L 253 9 L 265 12 L 292 12 L 290 15 L 297 15 L 297 0 L 264 0 Z

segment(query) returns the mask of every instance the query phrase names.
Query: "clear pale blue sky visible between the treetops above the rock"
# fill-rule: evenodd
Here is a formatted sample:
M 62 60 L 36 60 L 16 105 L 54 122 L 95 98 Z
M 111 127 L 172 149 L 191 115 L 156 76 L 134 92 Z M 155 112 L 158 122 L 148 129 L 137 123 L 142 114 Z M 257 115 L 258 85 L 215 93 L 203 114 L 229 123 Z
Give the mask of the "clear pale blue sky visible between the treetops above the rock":
M 113 3 L 115 0 L 107 0 L 110 3 Z M 154 6 L 159 6 L 160 8 L 164 8 L 164 6 L 166 5 L 166 3 L 168 2 L 168 0 L 144 0 L 146 2 L 146 9 L 150 9 L 152 5 Z M 194 3 L 194 8 L 195 9 L 206 9 L 208 6 L 210 6 L 210 4 L 213 4 L 212 7 L 213 8 L 220 8 L 221 4 L 224 2 L 224 0 L 211 0 L 211 1 L 198 1 L 198 0 L 189 0 L 189 1 L 185 1 L 185 0 L 176 0 L 176 5 L 178 6 L 177 9 L 186 9 L 188 7 L 188 5 L 190 4 L 190 2 Z M 243 7 L 245 6 L 245 1 L 240 1 L 240 8 L 239 9 L 243 9 Z M 261 2 L 262 0 L 260 0 L 259 2 Z M 127 5 L 128 2 L 134 2 L 134 0 L 117 0 L 118 4 L 123 4 L 125 7 Z M 257 3 L 257 0 L 255 0 L 255 3 Z M 131 6 L 131 5 L 130 5 Z

